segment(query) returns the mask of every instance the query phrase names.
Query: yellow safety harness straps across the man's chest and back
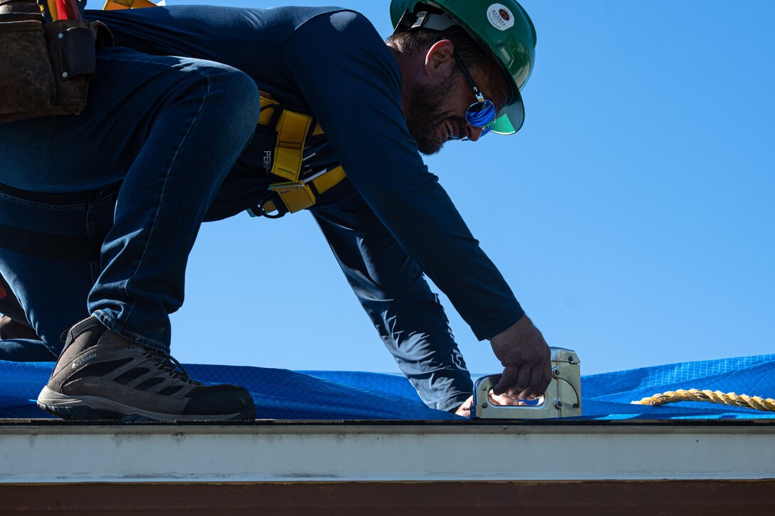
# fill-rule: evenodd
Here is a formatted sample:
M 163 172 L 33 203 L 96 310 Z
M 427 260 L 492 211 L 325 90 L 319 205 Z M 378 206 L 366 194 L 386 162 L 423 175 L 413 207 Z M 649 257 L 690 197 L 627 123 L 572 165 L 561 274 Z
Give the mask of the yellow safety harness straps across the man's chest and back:
M 156 6 L 150 0 L 107 0 L 103 10 Z M 305 147 L 323 134 L 312 115 L 285 108 L 264 91 L 260 92 L 260 106 L 258 130 L 277 134 L 268 173 L 281 181 L 271 183 L 267 196 L 247 212 L 253 217 L 280 218 L 314 205 L 320 194 L 344 181 L 346 175 L 342 167 L 302 172 Z

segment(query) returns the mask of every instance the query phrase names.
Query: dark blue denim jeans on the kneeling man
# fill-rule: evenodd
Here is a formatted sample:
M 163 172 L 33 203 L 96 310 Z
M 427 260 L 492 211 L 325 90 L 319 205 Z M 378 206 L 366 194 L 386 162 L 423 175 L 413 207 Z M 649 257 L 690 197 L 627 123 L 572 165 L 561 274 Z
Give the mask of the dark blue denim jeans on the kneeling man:
M 168 353 L 188 254 L 253 136 L 258 89 L 226 65 L 121 47 L 98 53 L 89 88 L 81 115 L 0 125 L 0 225 L 69 237 L 61 257 L 0 242 L 0 273 L 51 353 L 88 315 Z M 98 256 L 73 258 L 90 238 Z M 29 348 L 0 341 L 0 358 L 4 343 Z

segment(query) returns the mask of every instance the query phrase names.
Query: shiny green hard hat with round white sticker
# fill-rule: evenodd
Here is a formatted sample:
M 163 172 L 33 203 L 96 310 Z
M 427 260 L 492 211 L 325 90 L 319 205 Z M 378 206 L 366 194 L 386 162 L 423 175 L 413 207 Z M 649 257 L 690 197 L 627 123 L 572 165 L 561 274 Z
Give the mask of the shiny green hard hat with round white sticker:
M 391 21 L 396 32 L 413 27 L 443 30 L 459 25 L 489 50 L 512 85 L 512 98 L 495 121 L 493 132 L 514 134 L 525 122 L 519 91 L 525 86 L 536 60 L 536 27 L 514 0 L 391 0 Z

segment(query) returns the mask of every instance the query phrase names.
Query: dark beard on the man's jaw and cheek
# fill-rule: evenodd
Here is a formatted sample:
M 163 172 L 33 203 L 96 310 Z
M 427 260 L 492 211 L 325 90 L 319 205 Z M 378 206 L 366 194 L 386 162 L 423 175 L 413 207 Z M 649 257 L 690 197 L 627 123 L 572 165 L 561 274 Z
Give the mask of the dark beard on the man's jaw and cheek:
M 456 87 L 455 75 L 450 74 L 446 81 L 436 86 L 415 86 L 412 90 L 406 126 L 417 142 L 417 149 L 427 156 L 439 152 L 446 143 L 446 138 L 439 136 L 439 123 L 446 118 L 443 105 Z

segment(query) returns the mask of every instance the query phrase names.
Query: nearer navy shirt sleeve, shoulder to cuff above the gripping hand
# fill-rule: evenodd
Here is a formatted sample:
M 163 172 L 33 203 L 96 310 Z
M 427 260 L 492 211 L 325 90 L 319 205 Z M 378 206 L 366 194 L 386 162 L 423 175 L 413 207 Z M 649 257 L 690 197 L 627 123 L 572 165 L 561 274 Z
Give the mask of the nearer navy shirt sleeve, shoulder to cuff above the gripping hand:
M 518 321 L 524 311 L 508 284 L 422 162 L 401 112 L 398 65 L 370 22 L 350 11 L 319 15 L 282 52 L 347 177 L 477 338 Z

